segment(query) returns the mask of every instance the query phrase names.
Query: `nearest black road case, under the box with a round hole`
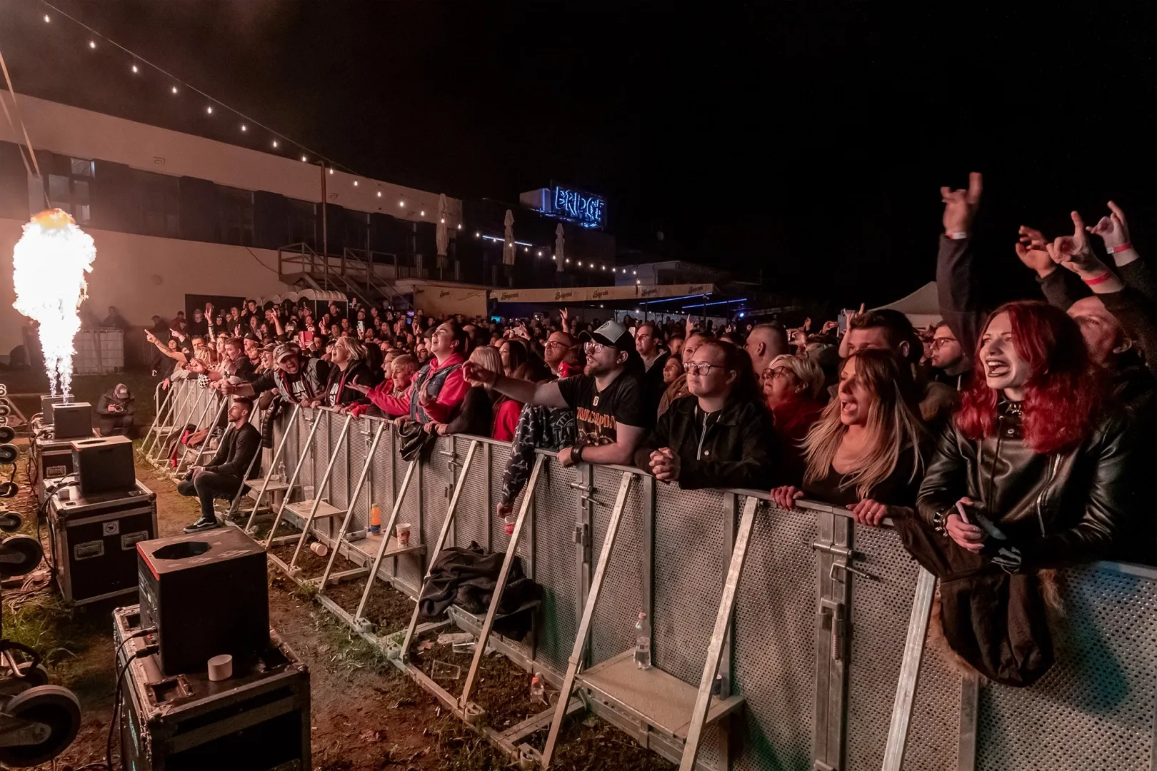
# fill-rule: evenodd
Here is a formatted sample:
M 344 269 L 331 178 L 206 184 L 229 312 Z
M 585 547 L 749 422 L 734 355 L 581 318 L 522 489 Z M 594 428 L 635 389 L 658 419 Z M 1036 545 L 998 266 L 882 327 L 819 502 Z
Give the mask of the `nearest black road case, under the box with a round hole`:
M 112 611 L 117 670 L 146 638 L 137 606 Z M 233 677 L 165 676 L 156 654 L 128 665 L 120 741 L 132 771 L 310 771 L 309 668 L 270 631 L 270 646 L 234 661 Z

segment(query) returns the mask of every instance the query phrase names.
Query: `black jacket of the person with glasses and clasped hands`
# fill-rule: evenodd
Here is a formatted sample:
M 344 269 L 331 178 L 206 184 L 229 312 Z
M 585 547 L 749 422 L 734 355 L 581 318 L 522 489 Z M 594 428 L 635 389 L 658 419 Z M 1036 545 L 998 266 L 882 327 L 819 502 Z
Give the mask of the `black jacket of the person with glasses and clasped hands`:
M 679 455 L 679 487 L 766 490 L 776 479 L 779 443 L 771 413 L 761 403 L 731 400 L 718 413 L 699 407 L 698 396 L 671 402 L 655 430 L 635 452 L 635 465 L 650 469 L 650 453 L 671 447 Z

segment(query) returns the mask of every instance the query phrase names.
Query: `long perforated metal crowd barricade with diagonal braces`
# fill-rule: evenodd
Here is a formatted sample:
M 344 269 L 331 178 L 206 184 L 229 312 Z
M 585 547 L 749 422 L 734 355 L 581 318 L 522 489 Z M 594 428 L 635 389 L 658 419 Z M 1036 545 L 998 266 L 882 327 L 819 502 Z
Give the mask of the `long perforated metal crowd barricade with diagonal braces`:
M 325 452 L 314 453 L 314 466 L 332 467 L 333 479 L 345 464 L 340 479 L 352 497 L 336 504 L 345 513 L 337 540 L 367 521 L 371 503 L 382 503 L 390 525 L 408 520 L 421 542 L 435 547 L 407 561 L 417 573 L 413 565 L 388 564 L 386 538 L 373 553 L 348 549 L 370 568 L 361 608 L 375 578 L 417 600 L 429 562 L 448 543 L 508 549 L 494 513 L 507 445 L 444 437 L 430 461 L 407 465 L 392 428 L 376 431 L 364 417 L 353 425 L 366 443 L 346 442 L 342 450 L 331 436 Z M 281 442 L 286 457 L 301 465 L 307 447 L 290 438 L 293 430 L 282 428 Z M 337 421 L 333 430 L 340 433 Z M 307 444 L 320 443 L 315 433 Z M 553 688 L 572 680 L 590 711 L 684 769 L 1157 768 L 1152 568 L 1103 562 L 1062 571 L 1057 662 L 1032 688 L 1011 689 L 961 674 L 927 640 L 935 581 L 889 527 L 856 526 L 846 510 L 810 502 L 784 511 L 760 491 L 680 490 L 638 469 L 565 469 L 545 452 L 539 464 L 519 506 L 522 538 L 508 554 L 522 557 L 543 587 L 541 633 L 529 644 L 492 635 L 491 645 L 528 673 L 541 672 Z M 354 484 L 360 476 L 368 477 L 364 484 Z M 620 484 L 622 505 L 616 506 Z M 740 544 L 745 561 L 735 558 Z M 600 561 L 603 554 L 612 558 Z M 351 615 L 324 596 L 331 568 L 332 559 L 322 578 L 323 605 L 367 639 L 395 645 L 369 632 L 361 610 Z M 598 601 L 589 602 L 595 595 Z M 684 736 L 640 719 L 639 710 L 607 698 L 595 682 L 600 662 L 633 647 L 640 610 L 651 623 L 654 666 L 695 695 Z M 474 633 L 493 621 L 454 608 L 450 620 Z M 415 615 L 403 647 L 419 629 Z M 395 662 L 434 690 L 404 654 Z M 436 695 L 465 718 L 470 691 L 460 700 Z M 701 731 L 715 703 L 712 691 L 721 702 L 743 699 L 717 733 Z M 583 709 L 574 699 L 563 711 Z M 521 726 L 522 733 L 479 729 L 517 754 L 529 749 L 518 741 L 546 728 L 550 717 Z

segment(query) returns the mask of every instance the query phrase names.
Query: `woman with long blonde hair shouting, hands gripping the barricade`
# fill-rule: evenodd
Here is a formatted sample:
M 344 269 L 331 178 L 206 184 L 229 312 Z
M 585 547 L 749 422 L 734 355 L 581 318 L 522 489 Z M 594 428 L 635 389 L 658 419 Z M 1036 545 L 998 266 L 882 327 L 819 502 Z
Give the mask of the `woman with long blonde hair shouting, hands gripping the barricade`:
M 808 496 L 847 506 L 862 525 L 911 509 L 923 469 L 923 424 L 911 368 L 887 350 L 861 350 L 840 365 L 835 399 L 804 440 L 802 489 L 772 490 L 784 509 Z

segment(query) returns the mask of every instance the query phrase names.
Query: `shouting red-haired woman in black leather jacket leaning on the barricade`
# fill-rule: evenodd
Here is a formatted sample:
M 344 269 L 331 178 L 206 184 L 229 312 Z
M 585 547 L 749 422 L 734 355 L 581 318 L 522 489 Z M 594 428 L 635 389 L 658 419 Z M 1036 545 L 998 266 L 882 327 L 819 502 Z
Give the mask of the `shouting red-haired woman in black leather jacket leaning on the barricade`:
M 1081 329 L 1045 303 L 988 317 L 964 393 L 920 488 L 923 519 L 1007 569 L 1097 559 L 1128 507 L 1126 435 Z

